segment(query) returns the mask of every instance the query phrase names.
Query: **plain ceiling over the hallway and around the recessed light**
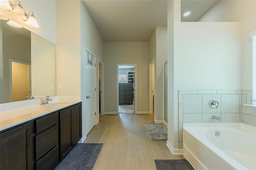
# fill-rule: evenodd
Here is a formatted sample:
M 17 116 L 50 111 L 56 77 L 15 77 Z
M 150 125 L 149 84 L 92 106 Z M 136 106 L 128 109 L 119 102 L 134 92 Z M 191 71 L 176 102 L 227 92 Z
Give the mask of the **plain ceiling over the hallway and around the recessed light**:
M 156 27 L 167 26 L 167 0 L 82 0 L 104 42 L 147 42 Z M 186 21 L 196 21 L 216 0 L 182 0 Z M 184 8 L 184 9 L 183 9 Z

